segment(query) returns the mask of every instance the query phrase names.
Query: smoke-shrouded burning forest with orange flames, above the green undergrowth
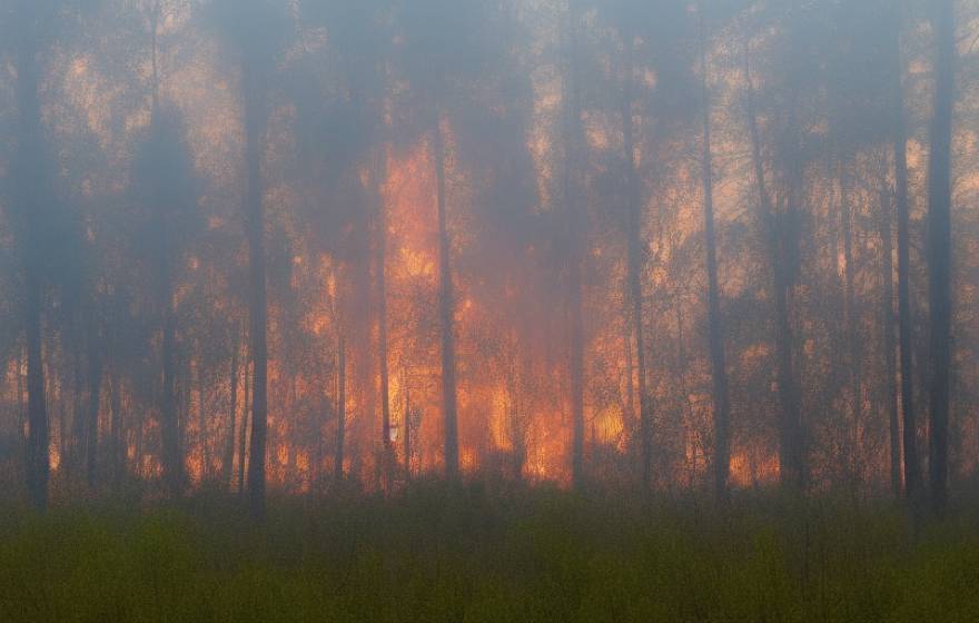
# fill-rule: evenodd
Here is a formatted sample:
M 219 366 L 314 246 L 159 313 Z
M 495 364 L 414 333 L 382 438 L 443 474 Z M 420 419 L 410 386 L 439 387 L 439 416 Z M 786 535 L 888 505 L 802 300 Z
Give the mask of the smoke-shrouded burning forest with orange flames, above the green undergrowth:
M 0 495 L 941 513 L 979 2 L 0 0 Z

